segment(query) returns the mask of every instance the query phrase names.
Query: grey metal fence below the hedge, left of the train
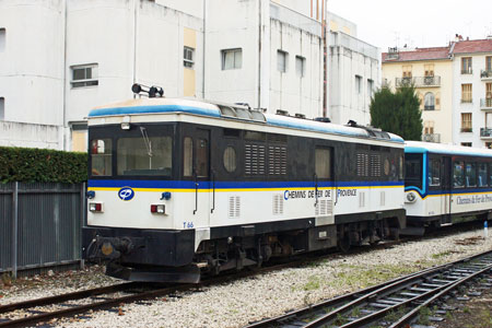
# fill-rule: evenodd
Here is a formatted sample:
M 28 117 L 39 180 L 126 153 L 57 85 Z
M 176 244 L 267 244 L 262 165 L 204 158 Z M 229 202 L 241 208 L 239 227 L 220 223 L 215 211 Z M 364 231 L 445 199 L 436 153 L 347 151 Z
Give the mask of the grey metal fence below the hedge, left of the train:
M 0 272 L 82 263 L 85 184 L 0 184 Z

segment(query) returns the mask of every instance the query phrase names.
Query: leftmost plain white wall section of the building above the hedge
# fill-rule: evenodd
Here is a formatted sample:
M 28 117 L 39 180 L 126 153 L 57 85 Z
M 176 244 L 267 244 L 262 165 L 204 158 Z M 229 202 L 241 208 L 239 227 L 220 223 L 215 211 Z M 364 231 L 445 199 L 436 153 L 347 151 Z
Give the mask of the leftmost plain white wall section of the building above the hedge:
M 62 125 L 62 0 L 0 0 L 0 97 L 4 120 Z

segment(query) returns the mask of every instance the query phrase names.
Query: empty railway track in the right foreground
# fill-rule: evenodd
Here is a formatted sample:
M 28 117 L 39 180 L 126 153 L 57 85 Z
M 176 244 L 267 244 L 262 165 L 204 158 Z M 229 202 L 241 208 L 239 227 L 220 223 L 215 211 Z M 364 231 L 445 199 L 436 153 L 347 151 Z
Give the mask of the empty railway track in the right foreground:
M 491 274 L 492 251 L 487 251 L 251 324 L 247 328 L 408 328 L 425 313 L 424 309 L 445 295 L 478 278 L 492 282 Z

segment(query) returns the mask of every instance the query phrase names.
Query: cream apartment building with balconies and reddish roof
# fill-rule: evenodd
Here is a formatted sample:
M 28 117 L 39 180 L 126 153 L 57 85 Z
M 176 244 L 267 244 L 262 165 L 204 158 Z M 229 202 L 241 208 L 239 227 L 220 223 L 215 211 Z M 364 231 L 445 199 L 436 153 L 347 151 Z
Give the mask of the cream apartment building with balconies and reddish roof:
M 422 139 L 492 148 L 492 38 L 457 36 L 447 47 L 383 54 L 383 83 L 413 83 L 421 99 Z

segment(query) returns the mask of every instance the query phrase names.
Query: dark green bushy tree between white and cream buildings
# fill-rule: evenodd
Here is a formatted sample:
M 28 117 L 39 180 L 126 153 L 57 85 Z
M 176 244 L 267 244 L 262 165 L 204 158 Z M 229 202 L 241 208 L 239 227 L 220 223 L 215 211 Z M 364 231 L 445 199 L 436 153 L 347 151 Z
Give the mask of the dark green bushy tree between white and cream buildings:
M 371 99 L 371 125 L 401 136 L 405 140 L 422 140 L 422 113 L 413 85 L 395 93 L 383 87 Z

